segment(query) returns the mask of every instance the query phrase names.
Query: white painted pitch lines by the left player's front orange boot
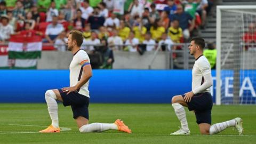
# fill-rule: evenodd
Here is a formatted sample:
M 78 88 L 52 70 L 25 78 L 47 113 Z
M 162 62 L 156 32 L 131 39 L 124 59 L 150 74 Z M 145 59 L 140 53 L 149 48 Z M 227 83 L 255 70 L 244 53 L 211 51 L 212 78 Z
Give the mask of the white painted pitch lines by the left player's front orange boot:
M 24 124 L 0 124 L 0 125 L 15 125 L 15 126 L 34 126 L 34 127 L 47 127 L 44 125 L 24 125 Z M 68 127 L 60 127 L 60 131 L 70 131 Z M 0 131 L 0 134 L 21 134 L 21 133 L 39 133 L 39 132 L 6 132 Z

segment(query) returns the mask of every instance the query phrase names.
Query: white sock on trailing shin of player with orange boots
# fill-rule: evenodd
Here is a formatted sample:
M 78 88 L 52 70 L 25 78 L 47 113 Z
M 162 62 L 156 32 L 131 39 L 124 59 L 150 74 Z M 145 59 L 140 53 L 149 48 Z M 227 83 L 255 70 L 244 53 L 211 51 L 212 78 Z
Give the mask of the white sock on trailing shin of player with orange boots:
M 103 132 L 107 130 L 118 130 L 118 127 L 116 124 L 92 123 L 79 128 L 80 132 Z

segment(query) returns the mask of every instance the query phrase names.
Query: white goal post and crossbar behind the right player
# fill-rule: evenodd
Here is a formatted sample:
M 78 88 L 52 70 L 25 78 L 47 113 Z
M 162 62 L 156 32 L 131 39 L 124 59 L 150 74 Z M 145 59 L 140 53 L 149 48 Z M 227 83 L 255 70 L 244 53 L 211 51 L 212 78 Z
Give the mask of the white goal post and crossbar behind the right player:
M 216 18 L 216 47 L 217 47 L 217 63 L 216 63 L 216 105 L 221 105 L 221 10 L 244 10 L 256 9 L 256 5 L 220 5 L 217 6 Z M 235 12 L 235 11 L 234 11 Z

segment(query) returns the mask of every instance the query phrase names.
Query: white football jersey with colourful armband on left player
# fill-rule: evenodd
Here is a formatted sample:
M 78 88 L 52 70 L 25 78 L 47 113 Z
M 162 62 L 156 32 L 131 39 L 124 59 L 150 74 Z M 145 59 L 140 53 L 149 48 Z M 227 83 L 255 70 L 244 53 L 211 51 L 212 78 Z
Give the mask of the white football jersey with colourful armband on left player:
M 90 59 L 88 54 L 84 50 L 80 49 L 74 54 L 73 59 L 69 65 L 70 87 L 75 86 L 78 81 L 80 81 L 83 73 L 83 66 L 85 65 L 90 65 Z M 88 87 L 89 81 L 81 86 L 80 89 L 77 90 L 77 92 L 90 98 Z

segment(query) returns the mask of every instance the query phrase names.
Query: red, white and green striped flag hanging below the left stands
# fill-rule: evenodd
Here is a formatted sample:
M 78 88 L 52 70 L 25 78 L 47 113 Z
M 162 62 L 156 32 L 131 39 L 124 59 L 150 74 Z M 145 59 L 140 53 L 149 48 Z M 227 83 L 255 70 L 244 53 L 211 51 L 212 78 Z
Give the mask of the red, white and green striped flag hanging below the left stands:
M 40 36 L 11 36 L 9 59 L 15 59 L 13 69 L 36 69 L 37 59 L 41 58 L 42 38 Z

